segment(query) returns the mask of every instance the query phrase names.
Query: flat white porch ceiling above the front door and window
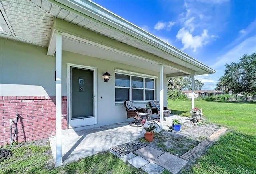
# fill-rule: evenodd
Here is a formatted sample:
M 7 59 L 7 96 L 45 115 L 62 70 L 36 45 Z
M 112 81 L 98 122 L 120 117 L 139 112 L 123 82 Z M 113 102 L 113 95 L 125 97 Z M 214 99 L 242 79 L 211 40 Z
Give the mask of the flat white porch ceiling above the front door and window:
M 137 57 L 132 57 L 122 53 L 117 53 L 115 51 L 110 51 L 109 49 L 103 49 L 95 45 L 84 43 L 82 41 L 78 41 L 68 37 L 62 37 L 62 49 L 73 53 L 88 55 L 91 57 L 99 57 L 101 59 L 106 59 L 109 61 L 136 66 L 139 68 L 155 71 L 157 73 L 160 72 L 160 65 L 157 63 L 152 63 L 150 61 L 139 59 Z M 179 72 L 180 71 L 178 70 L 169 67 L 164 67 L 165 74 L 173 74 Z

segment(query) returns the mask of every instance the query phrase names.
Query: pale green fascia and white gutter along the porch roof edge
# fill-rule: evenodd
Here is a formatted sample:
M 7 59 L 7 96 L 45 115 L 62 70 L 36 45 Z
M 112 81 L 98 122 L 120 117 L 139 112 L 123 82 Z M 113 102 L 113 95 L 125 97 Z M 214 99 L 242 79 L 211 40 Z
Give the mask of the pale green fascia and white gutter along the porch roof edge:
M 215 73 L 215 70 L 203 63 L 197 61 L 196 59 L 190 57 L 186 53 L 176 49 L 172 45 L 165 43 L 164 41 L 158 39 L 154 35 L 144 31 L 143 29 L 137 27 L 136 25 L 124 20 L 123 18 L 117 16 L 116 14 L 106 10 L 105 8 L 99 6 L 98 4 L 88 0 L 47 0 L 57 6 L 66 8 L 66 10 L 75 10 L 81 14 L 86 15 L 90 20 L 100 23 L 102 25 L 108 25 L 114 30 L 122 32 L 122 34 L 132 37 L 132 39 L 138 40 L 140 42 L 149 45 L 153 49 L 158 49 L 166 53 L 175 56 L 176 58 L 185 61 L 191 65 L 200 67 L 204 72 L 198 72 L 195 75 L 200 74 L 211 74 Z M 67 8 L 68 7 L 68 8 Z

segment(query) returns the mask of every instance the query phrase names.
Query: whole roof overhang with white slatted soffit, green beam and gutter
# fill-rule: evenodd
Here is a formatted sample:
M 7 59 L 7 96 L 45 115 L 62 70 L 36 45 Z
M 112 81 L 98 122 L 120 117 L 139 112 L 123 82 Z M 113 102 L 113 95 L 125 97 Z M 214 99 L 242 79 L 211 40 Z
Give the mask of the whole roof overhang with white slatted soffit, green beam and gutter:
M 8 25 L 12 33 L 12 35 L 1 34 L 1 37 L 48 47 L 48 55 L 54 55 L 55 33 L 60 31 L 66 38 L 66 42 L 73 41 L 77 44 L 78 41 L 81 43 L 80 46 L 87 44 L 91 47 L 93 45 L 97 47 L 94 47 L 95 50 L 101 48 L 102 52 L 109 50 L 112 51 L 111 54 L 116 53 L 114 56 L 127 55 L 127 58 L 130 57 L 132 60 L 141 59 L 145 64 L 149 62 L 156 65 L 154 70 L 163 64 L 166 69 L 169 69 L 165 72 L 168 78 L 215 72 L 210 67 L 91 1 L 0 1 L 5 25 Z M 5 16 L 4 12 L 6 12 Z M 104 59 L 100 56 L 99 58 Z M 112 61 L 115 60 L 112 59 Z M 125 62 L 120 60 L 119 63 Z

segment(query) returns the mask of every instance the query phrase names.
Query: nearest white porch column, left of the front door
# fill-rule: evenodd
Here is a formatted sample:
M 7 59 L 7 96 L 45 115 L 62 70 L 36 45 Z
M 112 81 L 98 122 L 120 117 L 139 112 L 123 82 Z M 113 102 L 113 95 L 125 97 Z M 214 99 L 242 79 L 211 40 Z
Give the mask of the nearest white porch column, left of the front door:
M 61 142 L 61 59 L 62 59 L 62 33 L 56 31 L 56 166 L 62 164 L 62 142 Z

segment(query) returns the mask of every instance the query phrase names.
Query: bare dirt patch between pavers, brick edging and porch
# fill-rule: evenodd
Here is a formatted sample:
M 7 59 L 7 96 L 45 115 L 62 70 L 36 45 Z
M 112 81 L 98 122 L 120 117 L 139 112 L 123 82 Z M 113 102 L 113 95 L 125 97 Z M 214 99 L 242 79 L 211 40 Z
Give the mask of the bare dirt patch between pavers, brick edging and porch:
M 188 121 L 182 124 L 180 132 L 161 131 L 155 133 L 152 142 L 145 141 L 144 137 L 140 138 L 139 141 L 180 157 L 217 130 L 218 127 L 214 124 L 204 124 L 203 121 L 201 125 L 194 125 L 192 121 Z

